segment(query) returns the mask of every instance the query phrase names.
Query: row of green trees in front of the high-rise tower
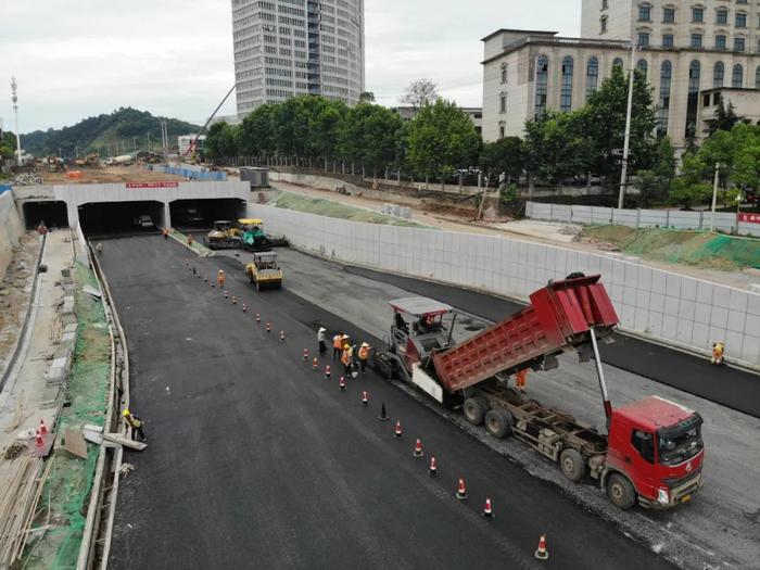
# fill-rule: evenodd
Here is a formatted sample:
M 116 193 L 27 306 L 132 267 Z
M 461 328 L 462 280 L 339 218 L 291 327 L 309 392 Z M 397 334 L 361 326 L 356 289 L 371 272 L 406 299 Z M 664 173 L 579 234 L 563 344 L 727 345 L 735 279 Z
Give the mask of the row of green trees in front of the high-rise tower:
M 263 154 L 297 156 L 315 165 L 337 161 L 376 176 L 387 167 L 408 168 L 432 179 L 477 164 L 480 137 L 455 103 L 425 100 L 417 116 L 405 123 L 370 99 L 354 107 L 312 96 L 262 105 L 238 126 L 212 125 L 206 154 L 216 161 Z

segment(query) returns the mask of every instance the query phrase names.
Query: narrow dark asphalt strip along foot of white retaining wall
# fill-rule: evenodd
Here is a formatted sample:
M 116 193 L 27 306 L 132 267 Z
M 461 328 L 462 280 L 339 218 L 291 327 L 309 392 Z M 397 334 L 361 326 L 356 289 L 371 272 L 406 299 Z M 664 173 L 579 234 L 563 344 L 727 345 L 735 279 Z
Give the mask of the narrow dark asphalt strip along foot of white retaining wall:
M 364 267 L 346 266 L 346 270 L 438 299 L 492 321 L 503 320 L 524 307 L 504 297 Z M 626 334 L 615 334 L 615 340 L 612 344 L 599 345 L 607 364 L 760 418 L 758 375 L 729 366 L 712 366 L 707 358 Z

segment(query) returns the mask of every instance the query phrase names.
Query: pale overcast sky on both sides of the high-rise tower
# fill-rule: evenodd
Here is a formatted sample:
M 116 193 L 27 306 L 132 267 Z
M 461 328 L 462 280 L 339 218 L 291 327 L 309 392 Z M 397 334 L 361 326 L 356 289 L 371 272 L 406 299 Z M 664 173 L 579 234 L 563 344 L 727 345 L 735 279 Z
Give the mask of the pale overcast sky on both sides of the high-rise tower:
M 235 80 L 229 0 L 1 0 L 0 117 L 20 130 L 134 106 L 203 123 Z M 365 0 L 368 91 L 397 103 L 428 77 L 481 105 L 482 43 L 499 27 L 580 33 L 580 0 Z M 74 8 L 76 7 L 76 8 Z M 235 112 L 233 96 L 223 114 Z

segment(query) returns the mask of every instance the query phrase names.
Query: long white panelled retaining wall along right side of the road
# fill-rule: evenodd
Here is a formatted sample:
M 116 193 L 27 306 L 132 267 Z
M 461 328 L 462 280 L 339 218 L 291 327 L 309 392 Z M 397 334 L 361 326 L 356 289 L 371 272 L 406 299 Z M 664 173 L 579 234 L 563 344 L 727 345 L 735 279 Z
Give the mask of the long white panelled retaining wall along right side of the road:
M 346 221 L 249 205 L 294 245 L 381 270 L 481 289 L 523 301 L 572 271 L 601 274 L 624 330 L 760 367 L 760 294 L 644 267 L 609 255 L 501 237 Z

